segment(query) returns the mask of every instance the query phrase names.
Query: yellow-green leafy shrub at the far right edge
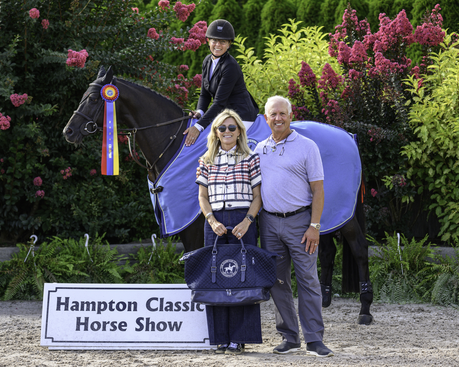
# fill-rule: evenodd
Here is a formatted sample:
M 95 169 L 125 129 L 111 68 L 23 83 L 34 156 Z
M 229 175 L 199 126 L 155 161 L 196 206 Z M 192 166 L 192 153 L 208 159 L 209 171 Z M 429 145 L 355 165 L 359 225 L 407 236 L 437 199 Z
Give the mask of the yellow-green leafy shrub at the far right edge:
M 431 195 L 429 209 L 440 217 L 442 240 L 459 235 L 459 43 L 454 39 L 447 35 L 439 52 L 431 53 L 426 73 L 407 82 L 414 99 L 409 122 L 417 139 L 402 152 L 418 193 Z

